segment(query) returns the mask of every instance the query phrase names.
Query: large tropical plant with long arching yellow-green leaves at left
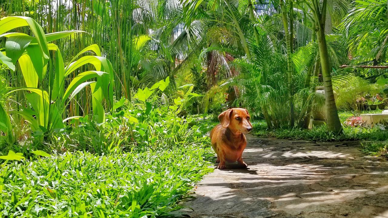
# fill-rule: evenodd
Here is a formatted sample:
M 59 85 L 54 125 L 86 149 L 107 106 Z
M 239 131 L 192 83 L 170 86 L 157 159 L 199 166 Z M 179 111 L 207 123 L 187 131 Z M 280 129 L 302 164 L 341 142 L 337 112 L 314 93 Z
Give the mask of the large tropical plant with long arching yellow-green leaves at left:
M 24 33 L 5 33 L 17 27 L 28 26 L 34 36 Z M 0 36 L 7 37 L 5 51 L 0 52 L 3 64 L 7 65 L 12 72 L 16 70 L 18 63 L 23 74 L 25 87 L 11 87 L 3 97 L 17 91 L 24 91 L 28 107 L 23 110 L 12 110 L 9 113 L 21 115 L 35 134 L 52 132 L 64 128 L 64 122 L 71 118 L 63 117 L 65 110 L 72 100 L 83 88 L 90 86 L 92 96 L 92 110 L 96 120 L 100 123 L 105 121 L 105 110 L 113 106 L 113 69 L 109 60 L 101 57 L 97 45 L 91 45 L 80 51 L 70 64 L 65 67 L 64 59 L 58 46 L 48 43 L 56 39 L 67 37 L 79 31 L 65 31 L 44 34 L 42 27 L 30 17 L 4 17 L 0 19 Z M 50 59 L 49 51 L 54 51 L 55 56 Z M 85 53 L 93 51 L 95 56 Z M 78 58 L 79 57 L 79 58 Z M 77 59 L 78 58 L 78 59 Z M 54 65 L 49 64 L 55 63 Z M 65 88 L 69 75 L 84 65 L 91 64 L 95 70 L 87 70 L 73 74 L 73 79 Z M 47 68 L 54 68 L 49 70 Z M 88 81 L 97 78 L 96 81 Z M 88 82 L 87 82 L 88 81 Z M 106 100 L 106 101 L 104 101 Z M 12 130 L 9 116 L 2 107 L 2 116 L 6 117 L 2 126 L 7 127 L 3 132 Z M 87 114 L 88 112 L 84 112 Z

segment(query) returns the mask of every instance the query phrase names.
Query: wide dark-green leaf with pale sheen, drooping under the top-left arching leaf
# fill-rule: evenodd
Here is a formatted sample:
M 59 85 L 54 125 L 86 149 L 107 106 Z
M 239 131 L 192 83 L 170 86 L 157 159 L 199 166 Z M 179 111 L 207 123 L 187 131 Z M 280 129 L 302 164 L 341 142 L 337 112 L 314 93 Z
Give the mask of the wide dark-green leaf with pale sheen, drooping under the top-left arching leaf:
M 16 64 L 32 39 L 34 39 L 32 36 L 20 35 L 10 36 L 7 41 L 5 41 L 5 53 L 7 54 L 7 57 L 12 59 L 13 64 Z

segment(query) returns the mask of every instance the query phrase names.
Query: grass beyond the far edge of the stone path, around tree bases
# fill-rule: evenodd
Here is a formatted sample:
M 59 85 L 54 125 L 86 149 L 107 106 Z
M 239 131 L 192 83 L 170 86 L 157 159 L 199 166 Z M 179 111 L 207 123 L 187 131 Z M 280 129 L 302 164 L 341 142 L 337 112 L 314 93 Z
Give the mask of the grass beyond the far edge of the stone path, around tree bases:
M 362 113 L 381 113 L 382 110 L 363 111 Z M 352 117 L 351 112 L 342 111 L 339 113 L 341 122 Z M 336 135 L 327 131 L 327 127 L 320 126 L 313 129 L 279 129 L 267 130 L 264 120 L 253 122 L 253 133 L 259 137 L 275 137 L 279 139 L 297 139 L 309 141 L 346 141 L 346 140 L 372 140 L 383 141 L 388 138 L 387 130 L 379 128 L 363 128 L 344 126 L 344 134 Z

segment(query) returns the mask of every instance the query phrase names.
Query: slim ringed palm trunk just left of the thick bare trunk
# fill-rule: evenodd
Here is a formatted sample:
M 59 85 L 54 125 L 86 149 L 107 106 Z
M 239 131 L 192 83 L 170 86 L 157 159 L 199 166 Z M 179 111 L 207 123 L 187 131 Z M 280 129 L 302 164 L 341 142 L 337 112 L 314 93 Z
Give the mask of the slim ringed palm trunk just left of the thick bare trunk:
M 290 5 L 292 6 L 292 4 Z M 294 126 L 294 100 L 293 100 L 293 87 L 292 87 L 292 73 L 293 73 L 293 67 L 292 67 L 292 60 L 291 55 L 293 53 L 293 34 L 290 34 L 289 31 L 289 25 L 288 22 L 290 22 L 293 25 L 293 17 L 289 17 L 290 21 L 287 19 L 287 10 L 286 6 L 284 5 L 283 0 L 280 1 L 280 8 L 281 8 L 281 15 L 282 15 L 282 21 L 284 26 L 284 33 L 286 35 L 286 53 L 287 53 L 287 82 L 288 82 L 288 96 L 289 96 L 289 109 L 290 109 L 290 126 Z M 293 10 L 291 8 L 291 10 Z M 291 13 L 292 14 L 292 13 Z M 291 28 L 293 30 L 293 27 Z

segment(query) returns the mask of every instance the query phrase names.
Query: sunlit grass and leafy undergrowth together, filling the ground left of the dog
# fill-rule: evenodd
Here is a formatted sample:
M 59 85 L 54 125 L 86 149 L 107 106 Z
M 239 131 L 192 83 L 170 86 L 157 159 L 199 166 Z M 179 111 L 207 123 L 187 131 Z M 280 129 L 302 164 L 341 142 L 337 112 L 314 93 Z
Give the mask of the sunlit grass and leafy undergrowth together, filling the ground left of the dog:
M 77 127 L 52 133 L 54 143 L 41 144 L 44 151 L 21 146 L 34 159 L 0 165 L 1 215 L 137 218 L 180 209 L 182 197 L 212 170 L 211 126 L 201 123 L 203 117 L 177 117 L 182 102 L 163 105 L 160 98 L 135 99 L 131 110 L 106 115 L 104 125 L 79 117 Z M 9 152 L 0 158 L 24 158 Z

